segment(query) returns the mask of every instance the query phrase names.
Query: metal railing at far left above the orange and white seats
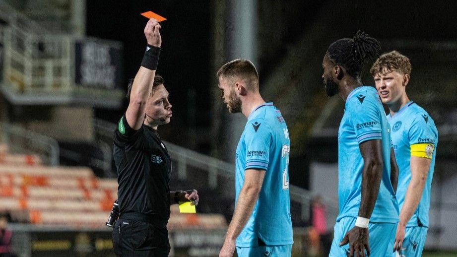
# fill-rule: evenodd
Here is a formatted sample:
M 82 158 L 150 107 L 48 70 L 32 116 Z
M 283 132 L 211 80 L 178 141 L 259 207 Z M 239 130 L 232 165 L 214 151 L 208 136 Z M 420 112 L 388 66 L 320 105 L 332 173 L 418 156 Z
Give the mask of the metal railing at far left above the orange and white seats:
M 1 136 L 12 152 L 34 153 L 43 164 L 59 165 L 59 144 L 51 137 L 24 128 L 1 123 Z

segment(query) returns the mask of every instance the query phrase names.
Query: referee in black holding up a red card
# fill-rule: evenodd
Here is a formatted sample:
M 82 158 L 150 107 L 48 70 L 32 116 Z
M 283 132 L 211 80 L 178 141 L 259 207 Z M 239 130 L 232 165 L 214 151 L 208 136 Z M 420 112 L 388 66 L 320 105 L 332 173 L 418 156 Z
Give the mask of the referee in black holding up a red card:
M 157 132 L 157 127 L 168 124 L 172 116 L 164 80 L 155 74 L 162 43 L 160 28 L 155 19 L 144 28 L 146 52 L 129 84 L 129 107 L 114 136 L 120 211 L 113 226 L 117 256 L 168 256 L 170 204 L 198 203 L 196 190 L 170 192 L 172 163 Z

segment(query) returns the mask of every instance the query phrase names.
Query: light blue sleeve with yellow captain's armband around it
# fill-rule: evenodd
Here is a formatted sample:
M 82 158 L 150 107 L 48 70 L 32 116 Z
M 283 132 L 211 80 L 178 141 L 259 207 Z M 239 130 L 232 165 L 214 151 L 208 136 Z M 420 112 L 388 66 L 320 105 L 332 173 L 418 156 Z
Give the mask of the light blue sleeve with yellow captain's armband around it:
M 411 155 L 431 159 L 438 140 L 438 132 L 427 113 L 417 113 L 408 130 Z

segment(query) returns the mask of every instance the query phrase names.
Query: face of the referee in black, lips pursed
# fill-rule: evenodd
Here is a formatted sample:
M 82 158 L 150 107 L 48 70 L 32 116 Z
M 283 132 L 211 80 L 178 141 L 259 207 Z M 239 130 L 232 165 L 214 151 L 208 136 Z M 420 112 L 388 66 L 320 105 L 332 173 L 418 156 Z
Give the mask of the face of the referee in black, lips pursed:
M 168 99 L 168 91 L 163 84 L 153 89 L 153 94 L 148 98 L 145 113 L 151 120 L 151 125 L 163 125 L 170 122 L 172 116 L 171 104 Z

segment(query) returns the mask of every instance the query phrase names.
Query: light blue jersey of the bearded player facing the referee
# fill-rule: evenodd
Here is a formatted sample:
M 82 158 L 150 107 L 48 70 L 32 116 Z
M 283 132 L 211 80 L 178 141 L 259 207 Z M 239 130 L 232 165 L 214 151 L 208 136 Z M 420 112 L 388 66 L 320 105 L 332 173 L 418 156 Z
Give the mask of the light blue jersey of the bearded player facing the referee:
M 236 150 L 236 201 L 244 184 L 245 170 L 266 172 L 254 211 L 236 240 L 237 247 L 293 244 L 289 153 L 289 132 L 281 112 L 272 103 L 257 107 L 248 117 Z

